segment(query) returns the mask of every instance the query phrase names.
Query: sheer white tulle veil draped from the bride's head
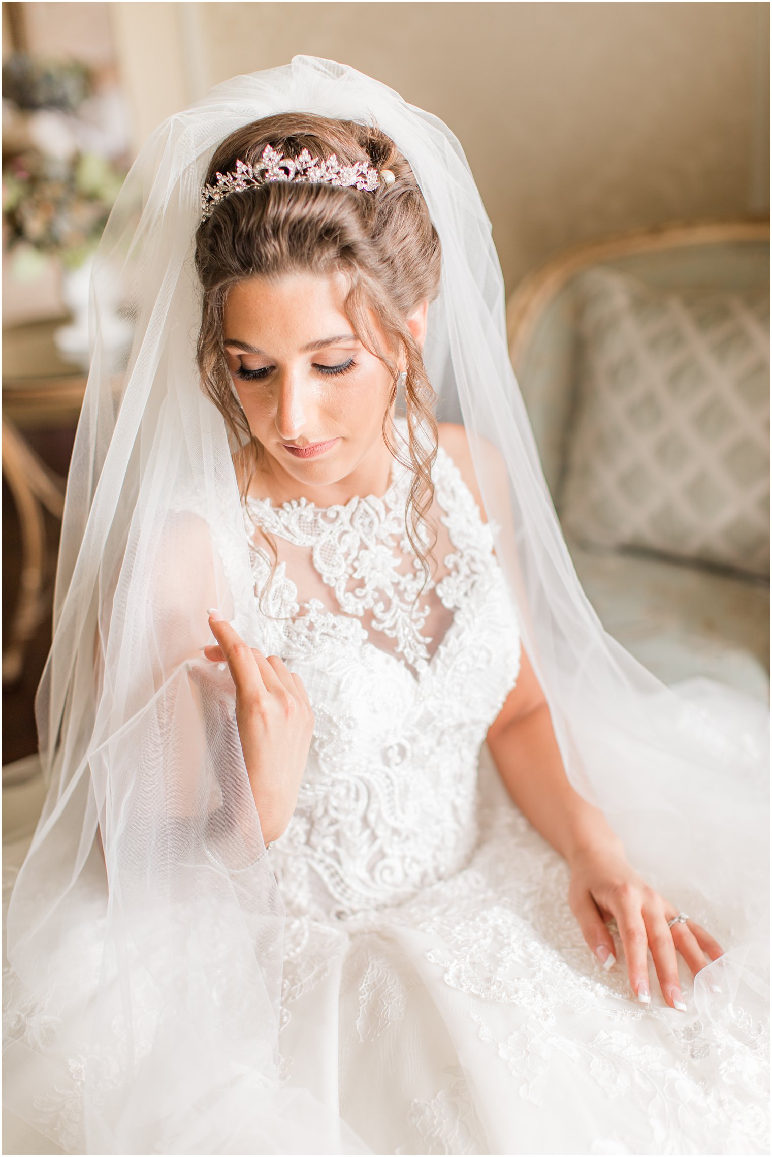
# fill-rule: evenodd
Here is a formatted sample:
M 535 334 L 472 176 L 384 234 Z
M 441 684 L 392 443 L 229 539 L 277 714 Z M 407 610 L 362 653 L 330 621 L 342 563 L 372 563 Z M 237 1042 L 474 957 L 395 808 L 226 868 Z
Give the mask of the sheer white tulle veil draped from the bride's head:
M 544 482 L 459 141 L 387 86 L 298 56 L 166 119 L 96 255 L 37 701 L 49 791 L 7 918 L 7 1104 L 73 1152 L 369 1151 L 280 1070 L 284 907 L 257 812 L 235 821 L 250 789 L 232 685 L 201 676 L 207 607 L 252 646 L 260 619 L 225 425 L 195 366 L 200 190 L 228 134 L 284 111 L 374 119 L 410 163 L 443 251 L 424 348 L 438 418 L 466 426 L 567 775 L 633 865 L 725 945 L 696 979 L 702 1014 L 726 1016 L 708 979 L 766 1001 L 766 710 L 740 731 L 604 632 Z M 116 282 L 134 323 L 119 363 L 101 329 Z

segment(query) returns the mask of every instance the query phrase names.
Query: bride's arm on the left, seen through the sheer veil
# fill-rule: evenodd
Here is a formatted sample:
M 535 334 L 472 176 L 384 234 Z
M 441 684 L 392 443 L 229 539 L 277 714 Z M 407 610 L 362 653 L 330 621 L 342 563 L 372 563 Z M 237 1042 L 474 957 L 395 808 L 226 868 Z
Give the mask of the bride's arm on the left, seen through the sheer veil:
M 236 756 L 233 683 L 227 671 L 220 671 L 217 663 L 209 662 L 201 653 L 201 644 L 211 639 L 207 606 L 224 589 L 218 568 L 211 533 L 202 517 L 192 510 L 170 516 L 148 583 L 144 607 L 148 647 L 146 661 L 138 664 L 138 690 L 133 693 L 140 729 L 143 705 L 153 702 L 155 695 L 163 703 L 157 758 L 163 764 L 164 791 L 148 805 L 156 811 L 165 810 L 165 823 L 179 847 L 192 841 L 198 848 L 199 833 L 208 825 L 209 842 L 216 846 L 227 865 L 233 864 L 238 870 L 245 858 L 252 860 L 262 850 L 265 817 L 255 808 L 247 774 Z M 104 646 L 114 616 L 112 597 L 117 581 L 118 570 L 103 600 L 94 635 L 97 702 L 104 693 Z M 120 635 L 120 613 L 112 629 Z M 158 707 L 150 710 L 157 712 Z M 273 817 L 268 820 L 273 823 Z M 97 837 L 104 857 L 101 830 Z M 268 834 L 265 840 L 269 842 L 270 838 Z

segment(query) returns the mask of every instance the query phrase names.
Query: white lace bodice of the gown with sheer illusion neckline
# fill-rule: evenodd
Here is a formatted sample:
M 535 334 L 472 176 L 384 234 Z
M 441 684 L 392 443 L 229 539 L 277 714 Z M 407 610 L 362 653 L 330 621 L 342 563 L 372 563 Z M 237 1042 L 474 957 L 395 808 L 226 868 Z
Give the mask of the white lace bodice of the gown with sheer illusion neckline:
M 300 676 L 316 718 L 295 813 L 270 849 L 296 914 L 399 902 L 467 863 L 477 838 L 480 749 L 517 679 L 520 635 L 491 526 L 443 447 L 432 479 L 437 565 L 415 609 L 423 572 L 401 463 L 383 498 L 245 503 L 255 592 L 273 562 L 255 525 L 279 550 L 266 654 Z

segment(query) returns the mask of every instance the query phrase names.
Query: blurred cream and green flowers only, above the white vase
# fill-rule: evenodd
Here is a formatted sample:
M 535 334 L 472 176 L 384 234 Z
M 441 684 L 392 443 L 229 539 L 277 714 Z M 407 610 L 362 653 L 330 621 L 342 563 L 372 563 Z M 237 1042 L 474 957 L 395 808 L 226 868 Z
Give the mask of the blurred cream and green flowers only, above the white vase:
M 121 123 L 123 121 L 123 123 Z M 127 131 L 118 93 L 95 93 L 79 61 L 14 53 L 2 65 L 3 242 L 13 275 L 49 257 L 65 270 L 96 249 L 124 182 Z

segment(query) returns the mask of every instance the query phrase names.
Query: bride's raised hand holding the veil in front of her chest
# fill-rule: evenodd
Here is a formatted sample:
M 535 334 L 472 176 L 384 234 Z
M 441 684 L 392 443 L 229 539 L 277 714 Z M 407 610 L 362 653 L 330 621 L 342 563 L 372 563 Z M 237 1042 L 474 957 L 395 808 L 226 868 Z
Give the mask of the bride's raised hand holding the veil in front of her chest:
M 228 663 L 236 685 L 236 723 L 266 843 L 290 821 L 313 737 L 313 712 L 298 675 L 279 655 L 247 647 L 220 611 L 210 610 L 217 646 L 203 648 Z

